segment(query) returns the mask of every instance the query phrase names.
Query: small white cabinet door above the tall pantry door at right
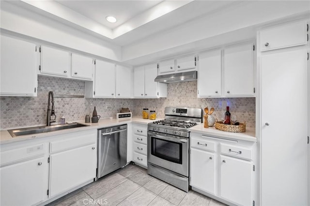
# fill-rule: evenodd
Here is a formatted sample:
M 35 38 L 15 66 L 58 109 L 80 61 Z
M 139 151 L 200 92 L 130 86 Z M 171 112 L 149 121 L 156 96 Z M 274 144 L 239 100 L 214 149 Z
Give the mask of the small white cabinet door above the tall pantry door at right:
M 260 31 L 261 51 L 307 44 L 307 22 L 294 22 Z

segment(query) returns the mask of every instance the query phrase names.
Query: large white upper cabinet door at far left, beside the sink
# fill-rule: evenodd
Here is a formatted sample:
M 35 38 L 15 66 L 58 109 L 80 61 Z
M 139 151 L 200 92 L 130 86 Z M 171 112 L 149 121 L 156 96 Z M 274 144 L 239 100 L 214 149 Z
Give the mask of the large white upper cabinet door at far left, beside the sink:
M 1 96 L 37 96 L 35 44 L 1 35 Z

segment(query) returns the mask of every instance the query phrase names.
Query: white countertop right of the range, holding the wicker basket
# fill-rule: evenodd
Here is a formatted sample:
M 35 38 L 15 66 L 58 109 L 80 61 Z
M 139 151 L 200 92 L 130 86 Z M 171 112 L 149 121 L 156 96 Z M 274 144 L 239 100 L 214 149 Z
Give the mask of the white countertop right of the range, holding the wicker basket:
M 207 136 L 226 138 L 226 139 L 239 139 L 250 142 L 256 142 L 256 135 L 254 131 L 246 132 L 223 132 L 215 129 L 215 127 L 204 128 L 203 124 L 198 124 L 189 129 L 189 132 L 196 132 Z

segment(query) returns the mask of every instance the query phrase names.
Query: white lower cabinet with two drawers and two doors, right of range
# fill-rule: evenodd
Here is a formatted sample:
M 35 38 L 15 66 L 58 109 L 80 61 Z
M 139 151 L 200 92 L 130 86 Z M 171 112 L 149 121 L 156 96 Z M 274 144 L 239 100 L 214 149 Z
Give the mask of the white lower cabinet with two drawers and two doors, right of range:
M 228 205 L 255 204 L 256 143 L 191 133 L 190 186 Z

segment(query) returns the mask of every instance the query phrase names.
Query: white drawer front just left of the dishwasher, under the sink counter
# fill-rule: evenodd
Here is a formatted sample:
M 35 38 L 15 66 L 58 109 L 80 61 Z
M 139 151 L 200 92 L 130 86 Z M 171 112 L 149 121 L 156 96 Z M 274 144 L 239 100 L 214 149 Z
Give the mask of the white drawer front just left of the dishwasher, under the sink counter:
M 66 149 L 91 145 L 97 143 L 97 131 L 74 132 L 63 134 L 65 140 L 50 143 L 50 152 L 57 152 Z

